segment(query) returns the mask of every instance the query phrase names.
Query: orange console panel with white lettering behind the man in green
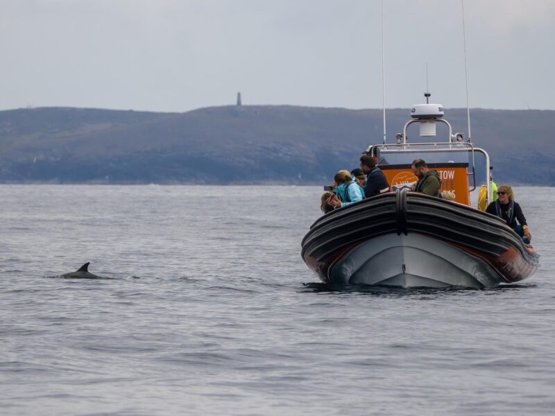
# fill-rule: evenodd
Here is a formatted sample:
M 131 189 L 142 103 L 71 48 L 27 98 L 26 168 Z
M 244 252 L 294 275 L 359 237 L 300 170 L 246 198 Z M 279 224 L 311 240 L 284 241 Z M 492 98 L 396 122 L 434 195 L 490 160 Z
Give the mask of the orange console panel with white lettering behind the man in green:
M 470 205 L 470 194 L 468 192 L 468 175 L 466 168 L 463 167 L 441 167 L 434 168 L 441 179 L 440 191 L 452 191 L 455 194 L 455 201 L 461 204 Z M 412 189 L 418 179 L 411 169 L 382 167 L 382 172 L 386 175 L 387 182 L 392 191 L 397 189 Z

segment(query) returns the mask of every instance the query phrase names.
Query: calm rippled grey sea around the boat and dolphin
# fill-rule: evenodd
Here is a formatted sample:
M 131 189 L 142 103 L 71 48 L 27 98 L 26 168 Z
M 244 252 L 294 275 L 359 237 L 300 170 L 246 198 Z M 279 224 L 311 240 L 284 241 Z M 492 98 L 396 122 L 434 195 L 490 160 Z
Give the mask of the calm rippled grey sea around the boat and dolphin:
M 1 185 L 0 413 L 552 413 L 554 190 L 522 284 L 387 291 L 300 259 L 319 187 Z

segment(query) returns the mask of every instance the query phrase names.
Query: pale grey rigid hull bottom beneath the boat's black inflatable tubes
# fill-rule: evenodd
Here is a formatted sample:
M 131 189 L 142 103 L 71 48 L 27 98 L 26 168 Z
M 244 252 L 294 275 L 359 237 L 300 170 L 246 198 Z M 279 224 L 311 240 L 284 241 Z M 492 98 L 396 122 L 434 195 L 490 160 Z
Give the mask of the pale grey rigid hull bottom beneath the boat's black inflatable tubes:
M 484 261 L 422 234 L 387 234 L 346 253 L 330 270 L 334 284 L 402 288 L 492 288 L 502 280 Z

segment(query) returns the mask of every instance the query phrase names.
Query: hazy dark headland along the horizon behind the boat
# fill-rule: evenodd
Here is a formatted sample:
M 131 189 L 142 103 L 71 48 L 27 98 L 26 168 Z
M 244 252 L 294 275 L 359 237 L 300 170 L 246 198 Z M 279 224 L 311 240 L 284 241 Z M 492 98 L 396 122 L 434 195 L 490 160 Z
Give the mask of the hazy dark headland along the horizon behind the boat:
M 466 110 L 445 118 L 466 131 Z M 388 110 L 391 141 L 408 119 L 408 109 Z M 472 110 L 472 139 L 497 182 L 555 186 L 554 129 L 553 111 Z M 0 182 L 323 184 L 381 141 L 381 110 L 10 110 L 0 112 Z

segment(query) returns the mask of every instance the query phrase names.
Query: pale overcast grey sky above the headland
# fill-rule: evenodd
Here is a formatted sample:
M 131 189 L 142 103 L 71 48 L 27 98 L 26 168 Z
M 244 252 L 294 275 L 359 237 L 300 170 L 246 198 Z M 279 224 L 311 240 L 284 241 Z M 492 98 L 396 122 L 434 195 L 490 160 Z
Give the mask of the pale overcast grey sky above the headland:
M 0 0 L 0 110 L 555 110 L 555 0 Z

